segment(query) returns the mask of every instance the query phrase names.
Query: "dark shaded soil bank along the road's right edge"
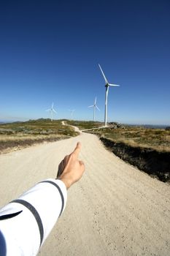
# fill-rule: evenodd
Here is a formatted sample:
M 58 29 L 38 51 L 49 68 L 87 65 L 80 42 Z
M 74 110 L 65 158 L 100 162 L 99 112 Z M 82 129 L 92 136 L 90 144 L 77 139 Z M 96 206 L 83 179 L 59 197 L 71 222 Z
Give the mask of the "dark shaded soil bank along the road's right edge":
M 152 148 L 128 146 L 107 138 L 100 138 L 117 157 L 123 159 L 161 181 L 170 181 L 170 153 L 160 152 Z

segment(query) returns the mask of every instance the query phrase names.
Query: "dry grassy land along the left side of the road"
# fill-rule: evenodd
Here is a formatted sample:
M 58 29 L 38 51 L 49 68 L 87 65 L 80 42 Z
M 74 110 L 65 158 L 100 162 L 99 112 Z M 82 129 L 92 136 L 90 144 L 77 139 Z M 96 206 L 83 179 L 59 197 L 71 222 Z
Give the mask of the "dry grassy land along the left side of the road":
M 63 120 L 38 119 L 26 122 L 0 124 L 0 154 L 35 143 L 63 140 L 78 133 L 74 128 L 63 126 Z

